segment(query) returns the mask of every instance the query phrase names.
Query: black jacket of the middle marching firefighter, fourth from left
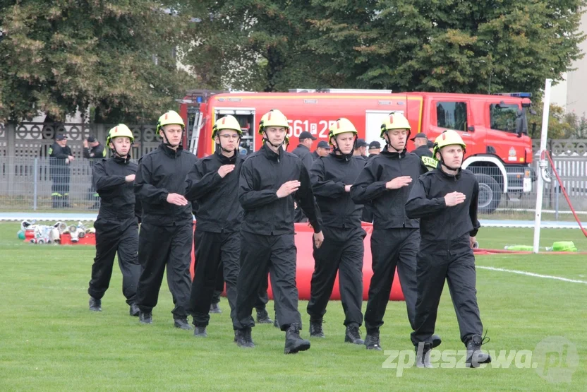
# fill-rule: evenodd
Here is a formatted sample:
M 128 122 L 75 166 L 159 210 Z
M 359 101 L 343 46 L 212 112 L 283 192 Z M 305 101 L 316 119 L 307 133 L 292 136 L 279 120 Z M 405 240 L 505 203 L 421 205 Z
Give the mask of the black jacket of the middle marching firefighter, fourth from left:
M 277 189 L 292 180 L 301 183 L 298 191 L 278 198 Z M 238 201 L 245 210 L 241 230 L 262 235 L 294 234 L 294 198 L 314 232 L 320 232 L 320 210 L 301 160 L 281 147 L 276 154 L 267 145 L 246 158 L 238 186 Z

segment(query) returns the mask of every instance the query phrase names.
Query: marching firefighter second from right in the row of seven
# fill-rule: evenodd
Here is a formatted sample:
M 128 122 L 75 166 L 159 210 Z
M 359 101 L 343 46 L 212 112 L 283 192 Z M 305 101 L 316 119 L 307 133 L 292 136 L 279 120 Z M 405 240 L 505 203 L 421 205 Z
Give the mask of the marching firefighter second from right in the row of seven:
M 389 302 L 397 267 L 408 319 L 413 326 L 416 307 L 416 252 L 420 245 L 419 222 L 406 217 L 404 208 L 412 182 L 425 173 L 417 155 L 406 151 L 411 126 L 403 114 L 394 112 L 381 125 L 382 152 L 367 162 L 351 188 L 355 203 L 371 202 L 373 278 L 365 309 L 365 346 L 381 350 L 379 331 Z M 437 343 L 440 344 L 440 343 Z

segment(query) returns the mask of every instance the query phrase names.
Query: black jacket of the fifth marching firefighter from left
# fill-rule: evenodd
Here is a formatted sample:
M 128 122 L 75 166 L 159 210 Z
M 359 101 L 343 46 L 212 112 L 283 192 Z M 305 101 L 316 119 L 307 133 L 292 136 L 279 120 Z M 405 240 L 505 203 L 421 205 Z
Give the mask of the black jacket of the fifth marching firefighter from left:
M 363 206 L 352 201 L 344 186 L 353 184 L 364 166 L 365 160 L 354 156 L 347 159 L 334 153 L 315 160 L 310 180 L 325 226 L 361 227 Z

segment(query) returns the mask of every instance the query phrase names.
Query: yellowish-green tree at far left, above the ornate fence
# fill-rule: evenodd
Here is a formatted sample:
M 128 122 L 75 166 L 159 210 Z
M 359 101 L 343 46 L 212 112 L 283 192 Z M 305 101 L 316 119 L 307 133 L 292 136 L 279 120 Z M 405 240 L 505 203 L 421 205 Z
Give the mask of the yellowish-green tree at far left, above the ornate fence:
M 174 48 L 185 20 L 151 0 L 4 1 L 0 121 L 46 112 L 63 120 L 152 121 L 176 107 L 187 73 Z

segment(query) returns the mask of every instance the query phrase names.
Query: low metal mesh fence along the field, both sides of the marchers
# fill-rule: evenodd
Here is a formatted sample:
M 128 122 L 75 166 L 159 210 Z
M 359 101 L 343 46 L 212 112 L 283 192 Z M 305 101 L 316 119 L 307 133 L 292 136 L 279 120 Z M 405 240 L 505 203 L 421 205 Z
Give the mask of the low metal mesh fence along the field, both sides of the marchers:
M 57 162 L 61 161 L 61 162 Z M 59 165 L 61 163 L 61 165 Z M 538 169 L 538 161 L 535 162 Z M 587 158 L 557 157 L 555 165 L 576 210 L 587 211 Z M 480 182 L 480 213 L 531 218 L 535 208 L 533 191 L 511 191 L 502 194 L 501 173 L 496 168 L 471 168 Z M 536 170 L 538 172 L 538 170 Z M 522 174 L 523 175 L 523 174 Z M 491 177 L 495 179 L 493 182 Z M 509 178 L 509 184 L 516 180 Z M 492 200 L 492 201 L 490 201 Z M 554 218 L 571 218 L 569 205 L 553 178 L 545 184 L 543 208 Z M 493 205 L 488 204 L 494 203 Z M 99 197 L 92 187 L 92 161 L 75 159 L 67 165 L 53 158 L 0 156 L 0 208 L 3 210 L 92 210 L 99 206 Z

